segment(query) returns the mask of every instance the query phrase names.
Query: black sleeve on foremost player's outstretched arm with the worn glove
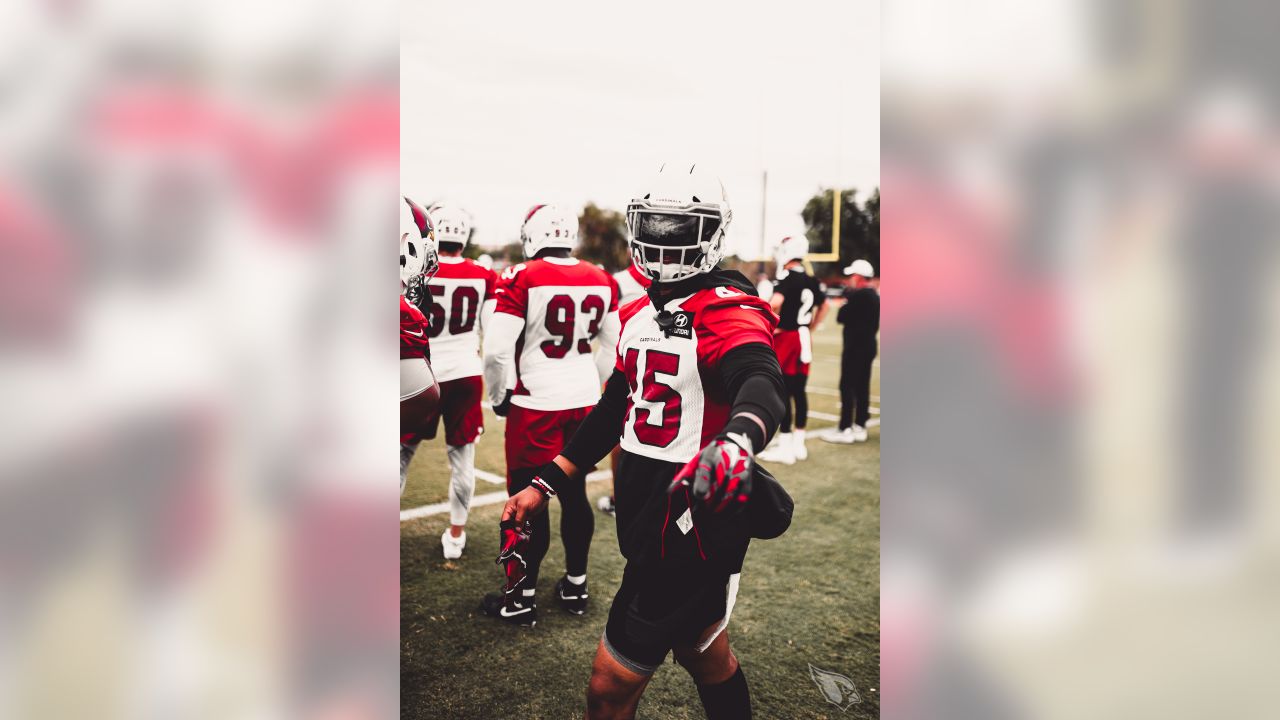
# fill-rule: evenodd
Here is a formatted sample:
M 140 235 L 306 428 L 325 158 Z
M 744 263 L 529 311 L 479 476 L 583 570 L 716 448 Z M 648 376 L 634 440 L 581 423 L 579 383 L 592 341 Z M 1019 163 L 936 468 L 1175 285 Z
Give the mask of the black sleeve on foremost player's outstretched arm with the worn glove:
M 751 438 L 754 452 L 764 450 L 785 413 L 786 391 L 777 354 L 763 342 L 741 345 L 724 354 L 719 372 L 724 389 L 733 402 L 724 432 L 737 432 Z M 749 418 L 737 416 L 742 413 L 759 418 L 764 423 L 764 429 L 762 430 Z

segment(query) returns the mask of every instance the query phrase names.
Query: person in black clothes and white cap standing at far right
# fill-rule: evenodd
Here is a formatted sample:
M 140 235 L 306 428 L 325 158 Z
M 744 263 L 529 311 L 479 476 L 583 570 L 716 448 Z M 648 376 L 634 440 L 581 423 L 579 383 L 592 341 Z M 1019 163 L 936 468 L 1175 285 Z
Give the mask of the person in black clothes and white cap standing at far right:
M 845 327 L 845 347 L 840 354 L 840 428 L 822 439 L 849 445 L 867 439 L 872 363 L 879 350 L 876 341 L 879 332 L 879 281 L 867 260 L 854 260 L 845 268 L 845 274 L 851 284 L 845 290 L 845 305 L 836 313 L 836 322 Z

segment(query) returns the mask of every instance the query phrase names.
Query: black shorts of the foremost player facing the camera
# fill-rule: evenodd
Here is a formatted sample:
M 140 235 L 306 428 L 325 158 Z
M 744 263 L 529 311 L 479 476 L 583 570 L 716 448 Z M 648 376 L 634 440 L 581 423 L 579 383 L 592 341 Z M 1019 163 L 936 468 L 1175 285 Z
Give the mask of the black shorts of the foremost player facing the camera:
M 732 582 L 731 582 L 732 580 Z M 737 575 L 628 562 L 604 625 L 604 647 L 623 667 L 652 675 L 675 647 L 692 647 L 708 626 L 727 620 Z

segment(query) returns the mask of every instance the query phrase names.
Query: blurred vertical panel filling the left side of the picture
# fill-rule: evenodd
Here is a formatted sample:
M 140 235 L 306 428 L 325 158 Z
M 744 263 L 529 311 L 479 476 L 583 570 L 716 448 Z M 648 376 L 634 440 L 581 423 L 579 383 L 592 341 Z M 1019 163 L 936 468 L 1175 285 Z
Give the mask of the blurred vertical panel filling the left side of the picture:
M 398 8 L 355 5 L 0 10 L 0 717 L 397 710 Z

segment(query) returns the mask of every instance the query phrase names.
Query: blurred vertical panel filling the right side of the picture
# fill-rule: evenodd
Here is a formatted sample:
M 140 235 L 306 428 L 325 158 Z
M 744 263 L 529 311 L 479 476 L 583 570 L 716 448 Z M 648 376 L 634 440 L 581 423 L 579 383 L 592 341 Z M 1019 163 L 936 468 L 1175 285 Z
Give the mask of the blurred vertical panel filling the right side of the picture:
M 887 4 L 886 717 L 1274 717 L 1277 9 Z

